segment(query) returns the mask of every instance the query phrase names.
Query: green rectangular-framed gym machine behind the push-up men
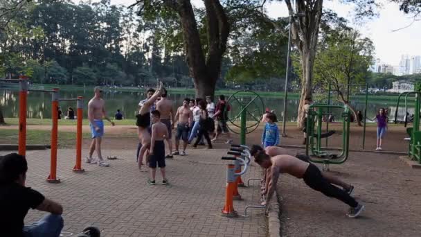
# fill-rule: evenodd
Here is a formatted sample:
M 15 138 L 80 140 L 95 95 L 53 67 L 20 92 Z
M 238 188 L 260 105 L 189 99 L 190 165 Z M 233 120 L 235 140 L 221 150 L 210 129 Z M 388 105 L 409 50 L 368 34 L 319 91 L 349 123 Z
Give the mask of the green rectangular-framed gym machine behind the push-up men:
M 314 111 L 314 108 L 317 111 Z M 323 134 L 321 133 L 322 126 L 322 117 L 328 112 L 324 112 L 323 109 L 334 109 L 339 108 L 343 109 L 341 117 L 343 119 L 343 132 L 342 132 L 342 149 L 340 154 L 331 154 L 326 150 L 323 150 L 321 147 L 321 139 Z M 314 133 L 314 121 L 317 123 L 317 132 Z M 319 105 L 313 104 L 310 105 L 309 112 L 307 114 L 307 139 L 305 144 L 305 155 L 309 155 L 309 150 L 313 157 L 318 157 L 321 159 L 312 159 L 310 161 L 314 163 L 323 164 L 323 170 L 329 170 L 329 164 L 343 164 L 348 159 L 349 151 L 349 139 L 350 139 L 350 112 L 346 105 Z M 332 132 L 331 132 L 332 133 Z M 314 144 L 314 139 L 316 139 L 316 144 Z

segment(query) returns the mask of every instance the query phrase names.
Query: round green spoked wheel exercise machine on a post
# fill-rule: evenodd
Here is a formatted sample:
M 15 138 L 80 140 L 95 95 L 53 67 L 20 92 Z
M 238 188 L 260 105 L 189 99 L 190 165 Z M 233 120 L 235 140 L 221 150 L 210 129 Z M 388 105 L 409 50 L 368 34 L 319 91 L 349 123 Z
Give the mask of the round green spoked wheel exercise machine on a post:
M 256 92 L 249 90 L 235 92 L 229 96 L 226 102 L 231 105 L 231 107 L 240 108 L 240 112 L 236 116 L 228 118 L 228 121 L 232 125 L 240 128 L 240 133 L 231 130 L 231 128 L 229 129 L 235 134 L 240 134 L 240 143 L 245 145 L 246 134 L 249 134 L 258 128 L 263 113 L 265 113 L 265 103 L 263 103 L 262 98 Z M 224 111 L 224 113 L 227 113 L 227 111 Z M 247 125 L 248 116 L 249 119 L 251 119 L 249 121 L 253 121 L 253 124 L 251 125 Z M 238 124 L 238 118 L 240 118 L 240 124 Z

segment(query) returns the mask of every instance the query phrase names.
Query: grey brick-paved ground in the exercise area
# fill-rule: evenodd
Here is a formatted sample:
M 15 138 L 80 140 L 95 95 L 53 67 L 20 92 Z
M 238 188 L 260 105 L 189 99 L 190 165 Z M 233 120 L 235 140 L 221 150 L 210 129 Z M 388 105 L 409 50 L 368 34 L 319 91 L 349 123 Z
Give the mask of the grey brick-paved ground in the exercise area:
M 84 150 L 83 156 L 86 155 Z M 148 173 L 139 172 L 135 150 L 104 150 L 115 155 L 109 168 L 83 164 L 85 173 L 73 173 L 74 150 L 59 150 L 57 177 L 60 184 L 48 184 L 49 150 L 28 151 L 27 186 L 64 206 L 64 229 L 78 233 L 84 227 L 99 227 L 102 236 L 266 236 L 267 220 L 262 210 L 251 218 L 225 218 L 226 165 L 220 157 L 226 150 L 188 150 L 188 156 L 167 160 L 170 185 L 149 186 Z M 8 152 L 0 152 L 5 155 Z M 251 166 L 249 177 L 260 177 Z M 161 182 L 157 173 L 157 182 Z M 249 204 L 259 204 L 259 188 L 241 188 L 243 201 L 234 201 L 242 214 Z M 30 210 L 25 223 L 44 213 Z

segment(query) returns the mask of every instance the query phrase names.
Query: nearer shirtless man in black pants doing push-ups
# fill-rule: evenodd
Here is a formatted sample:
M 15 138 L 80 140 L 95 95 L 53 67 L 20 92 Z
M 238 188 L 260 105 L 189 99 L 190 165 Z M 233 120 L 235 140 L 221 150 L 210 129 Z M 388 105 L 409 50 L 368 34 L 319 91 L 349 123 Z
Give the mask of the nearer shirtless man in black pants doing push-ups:
M 279 174 L 287 173 L 298 179 L 303 179 L 305 184 L 310 188 L 348 204 L 350 210 L 346 216 L 349 218 L 356 218 L 364 209 L 364 205 L 359 204 L 354 198 L 346 193 L 346 191 L 330 184 L 328 180 L 323 177 L 319 168 L 314 166 L 314 164 L 307 163 L 291 155 L 276 155 L 274 157 L 269 157 L 265 152 L 258 152 L 255 157 L 254 161 L 262 168 L 270 168 L 272 174 L 271 181 L 269 182 L 267 200 L 266 202 L 262 202 L 262 205 L 269 203 L 274 195 Z

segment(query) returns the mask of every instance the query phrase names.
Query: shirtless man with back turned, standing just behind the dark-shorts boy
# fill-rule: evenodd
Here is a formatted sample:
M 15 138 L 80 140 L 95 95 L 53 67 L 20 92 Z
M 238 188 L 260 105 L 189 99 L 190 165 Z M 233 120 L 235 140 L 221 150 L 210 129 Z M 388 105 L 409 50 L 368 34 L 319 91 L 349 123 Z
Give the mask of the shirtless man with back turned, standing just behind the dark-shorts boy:
M 165 140 L 168 143 L 168 150 L 170 153 L 165 157 L 172 159 L 172 130 L 174 129 L 174 110 L 172 109 L 172 100 L 167 97 L 167 90 L 163 89 L 161 100 L 156 102 L 156 110 L 161 113 L 161 122 L 167 126 L 168 136 Z M 171 123 L 172 122 L 172 123 Z

